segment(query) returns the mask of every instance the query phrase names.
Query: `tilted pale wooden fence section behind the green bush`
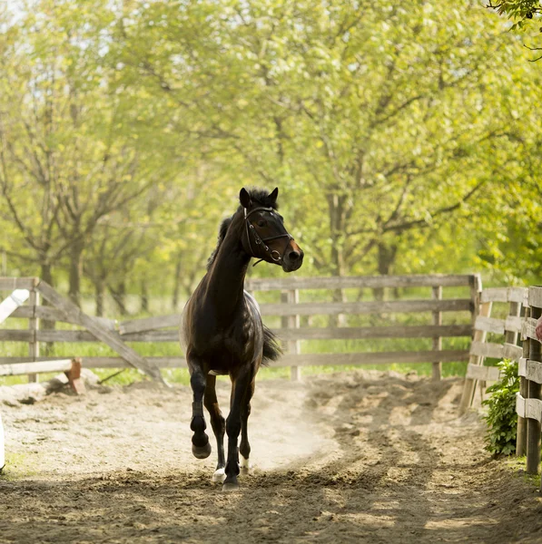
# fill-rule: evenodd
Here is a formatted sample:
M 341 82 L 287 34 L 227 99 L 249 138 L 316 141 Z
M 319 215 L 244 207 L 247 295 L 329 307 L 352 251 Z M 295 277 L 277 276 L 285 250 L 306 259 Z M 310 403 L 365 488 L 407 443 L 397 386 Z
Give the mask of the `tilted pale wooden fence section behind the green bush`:
M 482 291 L 470 345 L 465 385 L 459 403 L 460 413 L 465 412 L 472 404 L 477 383 L 480 384 L 480 396 L 483 398 L 486 384 L 498 380 L 498 367 L 484 365 L 486 357 L 519 361 L 523 351 L 517 345 L 517 336 L 521 332 L 521 308 L 526 300 L 527 287 L 496 287 Z M 492 317 L 494 304 L 506 304 L 508 316 Z M 493 338 L 492 342 L 487 342 L 488 334 L 498 336 L 500 341 L 496 342 L 496 338 Z

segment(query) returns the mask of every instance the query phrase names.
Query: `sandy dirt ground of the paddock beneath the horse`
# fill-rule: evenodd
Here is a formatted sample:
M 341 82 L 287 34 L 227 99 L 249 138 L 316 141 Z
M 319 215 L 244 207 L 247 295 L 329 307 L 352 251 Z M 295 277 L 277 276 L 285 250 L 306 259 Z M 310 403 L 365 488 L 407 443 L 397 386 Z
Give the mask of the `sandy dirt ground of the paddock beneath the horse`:
M 537 490 L 490 460 L 459 394 L 389 373 L 261 382 L 233 494 L 214 452 L 192 458 L 185 387 L 2 405 L 0 542 L 541 542 Z

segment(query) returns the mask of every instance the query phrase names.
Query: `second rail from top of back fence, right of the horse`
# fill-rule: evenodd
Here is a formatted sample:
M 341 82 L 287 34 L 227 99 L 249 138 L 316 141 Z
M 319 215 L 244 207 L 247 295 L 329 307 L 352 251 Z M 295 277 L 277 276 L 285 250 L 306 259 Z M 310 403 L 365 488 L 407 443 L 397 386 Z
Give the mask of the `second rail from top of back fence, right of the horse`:
M 459 312 L 470 311 L 468 298 L 445 300 L 390 300 L 376 302 L 306 302 L 288 306 L 262 304 L 262 316 L 330 316 L 338 314 L 388 314 L 410 312 Z

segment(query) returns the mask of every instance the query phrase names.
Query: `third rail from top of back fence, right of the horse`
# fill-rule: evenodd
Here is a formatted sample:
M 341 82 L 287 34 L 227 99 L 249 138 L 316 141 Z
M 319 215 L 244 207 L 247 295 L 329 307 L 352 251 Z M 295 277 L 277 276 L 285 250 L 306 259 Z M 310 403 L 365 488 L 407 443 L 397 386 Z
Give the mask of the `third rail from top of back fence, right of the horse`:
M 363 338 L 432 338 L 434 336 L 470 336 L 470 325 L 395 325 L 301 327 L 272 329 L 281 340 L 355 340 Z

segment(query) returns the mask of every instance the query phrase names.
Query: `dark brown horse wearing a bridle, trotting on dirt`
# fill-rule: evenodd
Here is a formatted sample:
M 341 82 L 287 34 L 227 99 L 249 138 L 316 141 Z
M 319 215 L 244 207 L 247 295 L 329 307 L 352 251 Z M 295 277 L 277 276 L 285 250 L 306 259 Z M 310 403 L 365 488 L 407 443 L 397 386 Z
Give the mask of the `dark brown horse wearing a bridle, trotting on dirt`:
M 263 189 L 241 189 L 240 206 L 232 217 L 222 221 L 207 273 L 182 312 L 181 344 L 193 393 L 192 453 L 197 459 L 205 459 L 212 450 L 205 433 L 204 404 L 218 452 L 212 481 L 222 482 L 222 491 L 237 490 L 237 476 L 249 473 L 247 424 L 255 377 L 261 364 L 281 355 L 277 338 L 261 322 L 258 303 L 244 290 L 249 263 L 254 257 L 259 260 L 253 266 L 265 261 L 292 272 L 303 262 L 303 251 L 278 212 L 278 195 L 278 188 L 269 194 Z M 217 375 L 229 375 L 232 382 L 226 420 L 216 397 Z M 224 432 L 228 435 L 227 459 Z

